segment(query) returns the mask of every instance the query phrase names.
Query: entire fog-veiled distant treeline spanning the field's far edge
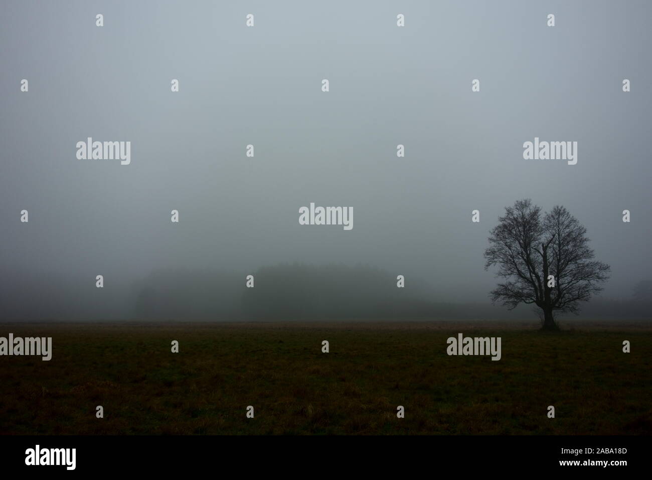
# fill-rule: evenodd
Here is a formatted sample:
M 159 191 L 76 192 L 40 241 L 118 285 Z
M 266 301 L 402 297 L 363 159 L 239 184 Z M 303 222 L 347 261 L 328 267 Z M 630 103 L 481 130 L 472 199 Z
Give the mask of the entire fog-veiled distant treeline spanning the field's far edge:
M 246 276 L 254 287 L 246 287 Z M 396 287 L 396 274 L 370 266 L 280 264 L 255 272 L 214 269 L 160 269 L 140 281 L 115 281 L 97 289 L 93 281 L 62 281 L 17 274 L 0 289 L 0 319 L 20 320 L 511 320 L 537 319 L 527 306 L 508 311 L 490 302 L 436 300 L 426 282 L 408 276 Z M 642 283 L 641 285 L 644 285 Z M 649 286 L 649 285 L 648 285 Z M 594 298 L 582 305 L 580 319 L 649 319 L 650 288 L 631 300 Z

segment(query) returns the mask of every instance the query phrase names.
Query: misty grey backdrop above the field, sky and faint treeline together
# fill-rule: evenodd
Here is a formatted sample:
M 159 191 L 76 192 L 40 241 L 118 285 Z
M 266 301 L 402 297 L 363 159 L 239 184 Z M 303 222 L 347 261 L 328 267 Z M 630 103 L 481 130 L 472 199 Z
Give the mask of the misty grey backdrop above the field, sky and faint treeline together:
M 649 2 L 0 8 L 0 319 L 535 318 L 488 304 L 482 257 L 523 198 L 611 265 L 582 315 L 649 317 Z M 130 165 L 78 160 L 89 136 Z M 577 165 L 524 160 L 535 136 Z

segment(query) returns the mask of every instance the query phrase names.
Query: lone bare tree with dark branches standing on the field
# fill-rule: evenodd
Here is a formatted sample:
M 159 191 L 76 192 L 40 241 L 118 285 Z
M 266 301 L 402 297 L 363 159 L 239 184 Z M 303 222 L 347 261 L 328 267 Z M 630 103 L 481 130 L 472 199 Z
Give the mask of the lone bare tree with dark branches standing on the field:
M 542 216 L 531 200 L 518 200 L 498 221 L 484 251 L 484 269 L 497 265 L 506 279 L 490 292 L 494 304 L 534 304 L 542 328 L 558 330 L 555 312 L 578 313 L 579 302 L 602 290 L 610 266 L 593 260 L 585 227 L 563 206 Z

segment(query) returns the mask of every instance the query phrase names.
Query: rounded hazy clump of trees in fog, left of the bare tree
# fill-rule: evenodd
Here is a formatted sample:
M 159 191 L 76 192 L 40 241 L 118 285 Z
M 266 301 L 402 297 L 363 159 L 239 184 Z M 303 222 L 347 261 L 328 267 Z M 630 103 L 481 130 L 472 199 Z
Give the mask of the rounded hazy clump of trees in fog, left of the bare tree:
M 316 320 L 400 317 L 424 310 L 427 287 L 398 288 L 378 268 L 280 264 L 246 276 L 205 270 L 160 270 L 145 278 L 136 300 L 142 319 Z M 421 282 L 413 281 L 415 285 Z M 425 310 L 424 310 L 425 313 Z

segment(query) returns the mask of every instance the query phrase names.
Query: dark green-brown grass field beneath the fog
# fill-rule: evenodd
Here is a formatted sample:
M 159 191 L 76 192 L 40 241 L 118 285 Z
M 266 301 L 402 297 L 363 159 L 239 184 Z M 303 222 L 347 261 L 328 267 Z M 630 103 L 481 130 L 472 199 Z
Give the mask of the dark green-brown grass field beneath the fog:
M 0 336 L 51 336 L 53 355 L 0 357 L 0 434 L 652 433 L 650 328 L 536 328 L 5 324 Z M 458 332 L 500 336 L 502 359 L 449 357 Z

